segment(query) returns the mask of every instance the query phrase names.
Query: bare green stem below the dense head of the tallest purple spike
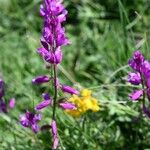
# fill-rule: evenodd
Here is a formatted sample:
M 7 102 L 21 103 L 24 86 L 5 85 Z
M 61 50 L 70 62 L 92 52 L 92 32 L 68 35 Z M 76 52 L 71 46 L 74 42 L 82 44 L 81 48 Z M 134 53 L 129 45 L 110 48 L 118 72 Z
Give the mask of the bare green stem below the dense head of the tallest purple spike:
M 57 102 L 57 66 L 54 65 L 54 103 L 53 103 L 53 120 L 56 115 L 56 102 Z

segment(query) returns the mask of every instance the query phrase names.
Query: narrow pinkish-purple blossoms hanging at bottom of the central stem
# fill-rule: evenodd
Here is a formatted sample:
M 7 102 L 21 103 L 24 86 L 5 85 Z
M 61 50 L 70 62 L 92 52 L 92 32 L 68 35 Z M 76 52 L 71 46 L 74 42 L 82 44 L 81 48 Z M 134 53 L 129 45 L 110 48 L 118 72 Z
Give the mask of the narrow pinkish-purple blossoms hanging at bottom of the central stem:
M 52 128 L 52 136 L 53 136 L 53 150 L 56 150 L 58 147 L 59 139 L 58 139 L 57 125 L 55 120 L 52 120 L 51 128 Z

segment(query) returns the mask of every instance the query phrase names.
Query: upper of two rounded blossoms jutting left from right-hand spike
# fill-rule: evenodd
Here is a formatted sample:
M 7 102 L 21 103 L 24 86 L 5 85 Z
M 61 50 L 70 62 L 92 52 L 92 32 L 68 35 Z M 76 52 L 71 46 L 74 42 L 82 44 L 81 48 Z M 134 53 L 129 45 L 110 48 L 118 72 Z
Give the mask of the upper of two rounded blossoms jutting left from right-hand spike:
M 141 83 L 141 76 L 139 73 L 129 73 L 128 82 L 133 85 L 139 85 Z

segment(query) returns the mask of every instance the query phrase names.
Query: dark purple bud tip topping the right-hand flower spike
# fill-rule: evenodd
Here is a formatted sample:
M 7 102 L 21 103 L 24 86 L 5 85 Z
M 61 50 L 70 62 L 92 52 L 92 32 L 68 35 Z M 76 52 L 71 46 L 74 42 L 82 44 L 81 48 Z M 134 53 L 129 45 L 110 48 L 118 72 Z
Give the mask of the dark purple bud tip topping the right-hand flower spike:
M 128 64 L 132 69 L 140 71 L 143 62 L 144 56 L 141 54 L 139 50 L 137 50 L 134 52 L 133 57 L 129 60 Z

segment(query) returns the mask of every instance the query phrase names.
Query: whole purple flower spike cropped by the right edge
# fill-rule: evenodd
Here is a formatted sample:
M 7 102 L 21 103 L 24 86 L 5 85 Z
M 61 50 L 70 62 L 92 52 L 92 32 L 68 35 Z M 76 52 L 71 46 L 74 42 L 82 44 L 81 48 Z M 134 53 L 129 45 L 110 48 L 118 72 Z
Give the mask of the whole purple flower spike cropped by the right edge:
M 142 109 L 146 116 L 150 117 L 150 110 L 145 106 L 145 98 L 150 100 L 150 62 L 145 60 L 140 51 L 135 51 L 128 62 L 134 72 L 128 74 L 128 82 L 133 85 L 142 85 L 141 89 L 134 90 L 130 94 L 133 101 L 142 98 Z

